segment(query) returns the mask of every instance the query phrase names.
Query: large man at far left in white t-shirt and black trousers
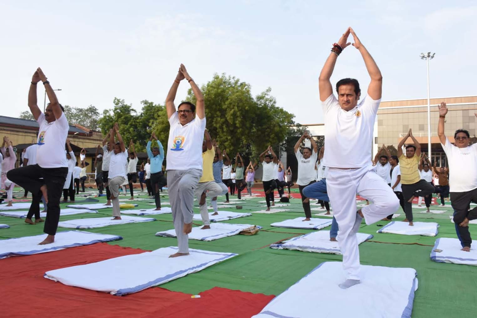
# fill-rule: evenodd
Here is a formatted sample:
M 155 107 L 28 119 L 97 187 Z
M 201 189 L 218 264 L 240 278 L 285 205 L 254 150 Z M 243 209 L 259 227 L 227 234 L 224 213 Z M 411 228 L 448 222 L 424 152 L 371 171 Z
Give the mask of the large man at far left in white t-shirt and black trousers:
M 50 101 L 45 113 L 41 113 L 37 105 L 36 88 L 40 81 L 43 82 Z M 31 192 L 33 196 L 32 207 L 39 207 L 41 195 L 45 197 L 48 214 L 46 215 L 43 231 L 48 235 L 40 243 L 40 245 L 43 245 L 54 242 L 58 221 L 60 220 L 60 199 L 66 174 L 68 174 L 68 162 L 64 152 L 70 126 L 63 113 L 62 105 L 58 103 L 50 82 L 47 81 L 40 68 L 36 70 L 31 79 L 28 107 L 30 107 L 33 117 L 40 125 L 36 152 L 37 163 L 12 169 L 8 172 L 7 177 Z

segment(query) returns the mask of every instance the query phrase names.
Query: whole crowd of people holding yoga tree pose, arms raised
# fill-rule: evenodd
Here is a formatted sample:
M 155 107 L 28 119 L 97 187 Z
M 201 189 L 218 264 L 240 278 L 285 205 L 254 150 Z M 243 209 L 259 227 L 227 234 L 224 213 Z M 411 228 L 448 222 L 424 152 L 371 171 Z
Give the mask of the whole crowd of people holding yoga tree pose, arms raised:
M 359 82 L 344 78 L 336 83 L 335 91 L 330 82 L 335 63 L 341 52 L 351 43 L 363 58 L 371 82 L 366 96 L 361 99 Z M 182 102 L 175 106 L 176 92 L 181 82 L 187 81 L 194 93 L 196 104 Z M 44 113 L 37 105 L 37 84 L 42 82 L 50 103 Z M 304 133 L 294 146 L 298 161 L 296 184 L 298 185 L 305 217 L 311 220 L 310 199 L 318 199 L 326 214 L 333 211 L 330 240 L 338 241 L 343 255 L 346 280 L 341 288 L 360 283 L 360 258 L 357 231 L 364 218 L 367 225 L 379 220 L 391 220 L 401 206 L 406 215 L 405 222 L 413 226 L 414 200 L 420 205 L 424 199 L 429 212 L 432 194 L 440 195 L 441 205 L 450 195 L 455 211 L 456 233 L 462 243 L 462 250 L 469 251 L 471 237 L 469 220 L 477 218 L 477 207 L 470 209 L 471 202 L 477 202 L 477 146 L 469 146 L 469 133 L 458 130 L 455 143 L 450 143 L 444 134 L 446 103 L 439 106 L 438 136 L 447 155 L 448 167 L 432 166 L 431 161 L 421 152 L 421 146 L 412 130 L 401 139 L 397 155 L 391 155 L 383 145 L 372 160 L 371 147 L 373 125 L 382 95 L 382 74 L 371 54 L 367 51 L 352 28 L 348 28 L 337 43 L 332 46 L 319 76 L 319 94 L 324 112 L 325 142 L 319 149 L 310 133 Z M 361 102 L 359 102 L 361 99 Z M 12 203 L 12 189 L 20 185 L 32 194 L 32 203 L 26 221 L 30 224 L 43 222 L 39 203 L 44 202 L 47 217 L 44 232 L 48 236 L 40 244 L 54 241 L 60 216 L 60 200 L 74 202 L 75 194 L 85 191 L 86 151 L 80 152 L 80 163 L 72 151 L 68 136 L 68 121 L 62 105 L 50 86 L 42 70 L 38 68 L 32 77 L 28 95 L 28 105 L 35 120 L 40 125 L 37 143 L 25 151 L 23 166 L 14 168 L 16 156 L 10 140 L 5 137 L 1 147 L 2 172 L 1 187 L 7 192 L 7 202 Z M 98 145 L 94 167 L 95 183 L 99 195 L 105 190 L 106 205 L 113 206 L 113 219 L 121 219 L 119 194 L 125 185 L 129 186 L 130 199 L 134 200 L 134 185 L 139 180 L 141 191 L 146 185 L 148 195 L 155 198 L 156 210 L 161 209 L 161 191 L 167 186 L 172 209 L 174 228 L 177 236 L 177 253 L 170 257 L 188 255 L 188 236 L 192 230 L 194 197 L 197 197 L 203 220 L 202 229 L 210 228 L 207 198 L 213 214 L 218 214 L 217 198 L 251 189 L 255 182 L 258 164 L 245 166 L 241 155 L 235 155 L 234 163 L 226 150 L 206 129 L 206 112 L 202 92 L 185 66 L 180 65 L 176 77 L 166 97 L 167 118 L 170 124 L 166 153 L 155 133 L 146 145 L 147 162 L 142 163 L 137 172 L 138 157 L 134 142 L 128 148 L 122 139 L 117 123 L 111 127 Z M 477 116 L 477 115 L 476 115 Z M 406 144 L 408 139 L 410 144 Z M 65 149 L 66 144 L 66 149 Z M 310 146 L 304 146 L 310 144 Z M 403 151 L 404 148 L 404 151 Z M 233 158 L 233 157 L 232 157 Z M 275 205 L 274 190 L 280 197 L 285 195 L 292 183 L 290 167 L 285 169 L 271 146 L 259 155 L 262 167 L 261 182 L 266 198 L 267 211 Z M 432 167 L 431 167 L 432 166 Z M 450 174 L 449 174 L 450 172 Z M 356 206 L 356 195 L 368 200 L 361 208 Z M 25 192 L 26 196 L 26 192 Z M 330 206 L 331 205 L 331 206 Z M 32 221 L 34 216 L 35 221 Z

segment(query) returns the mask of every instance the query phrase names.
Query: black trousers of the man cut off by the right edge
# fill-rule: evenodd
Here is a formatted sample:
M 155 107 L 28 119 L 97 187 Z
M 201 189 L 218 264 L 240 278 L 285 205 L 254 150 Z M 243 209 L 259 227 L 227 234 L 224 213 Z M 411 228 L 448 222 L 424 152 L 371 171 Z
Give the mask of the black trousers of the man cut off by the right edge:
M 477 206 L 467 211 L 471 202 L 477 203 L 477 188 L 467 192 L 451 192 L 450 201 L 454 209 L 454 223 L 458 231 L 457 236 L 459 236 L 462 246 L 470 247 L 472 238 L 470 237 L 469 227 L 463 227 L 459 224 L 462 223 L 466 217 L 469 221 L 477 219 Z

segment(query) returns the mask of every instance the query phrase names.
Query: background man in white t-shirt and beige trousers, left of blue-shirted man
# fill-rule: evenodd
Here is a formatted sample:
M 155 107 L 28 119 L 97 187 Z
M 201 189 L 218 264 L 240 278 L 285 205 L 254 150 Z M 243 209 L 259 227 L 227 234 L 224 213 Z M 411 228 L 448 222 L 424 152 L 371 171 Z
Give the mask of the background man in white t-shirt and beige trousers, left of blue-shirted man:
M 114 134 L 118 142 L 114 142 Z M 119 133 L 118 123 L 114 124 L 113 133 L 110 134 L 110 144 L 113 144 L 113 151 L 109 159 L 108 183 L 111 191 L 111 201 L 113 203 L 113 220 L 121 220 L 121 211 L 119 210 L 119 187 L 126 181 L 127 151 L 124 146 L 123 138 Z

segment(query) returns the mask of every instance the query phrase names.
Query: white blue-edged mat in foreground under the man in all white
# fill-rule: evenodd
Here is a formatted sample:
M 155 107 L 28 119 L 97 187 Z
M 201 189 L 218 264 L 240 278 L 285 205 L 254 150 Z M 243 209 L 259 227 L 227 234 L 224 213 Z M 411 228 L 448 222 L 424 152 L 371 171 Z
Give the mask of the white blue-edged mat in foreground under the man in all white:
M 321 263 L 253 317 L 411 317 L 418 285 L 414 268 L 362 265 L 360 277 L 360 284 L 341 289 L 342 263 Z

